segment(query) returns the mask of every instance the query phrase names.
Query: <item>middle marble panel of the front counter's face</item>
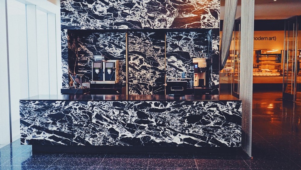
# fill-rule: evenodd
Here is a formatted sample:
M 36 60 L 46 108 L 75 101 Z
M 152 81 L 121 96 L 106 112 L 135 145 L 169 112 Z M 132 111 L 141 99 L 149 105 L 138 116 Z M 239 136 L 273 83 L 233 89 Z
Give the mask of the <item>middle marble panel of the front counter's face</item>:
M 91 101 L 92 145 L 159 146 L 165 143 L 166 108 L 157 101 Z M 164 145 L 164 144 L 162 144 Z

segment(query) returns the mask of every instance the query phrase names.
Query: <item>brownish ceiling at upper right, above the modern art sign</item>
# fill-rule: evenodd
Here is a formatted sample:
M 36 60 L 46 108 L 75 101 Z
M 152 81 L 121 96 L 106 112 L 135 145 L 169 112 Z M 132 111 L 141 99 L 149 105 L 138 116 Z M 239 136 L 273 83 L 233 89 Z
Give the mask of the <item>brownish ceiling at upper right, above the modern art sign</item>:
M 227 0 L 230 1 L 230 0 Z M 247 0 L 249 1 L 249 0 Z M 225 0 L 221 2 L 221 20 L 224 20 Z M 241 0 L 238 0 L 236 19 L 240 18 Z M 301 15 L 301 0 L 255 0 L 255 20 L 278 20 Z

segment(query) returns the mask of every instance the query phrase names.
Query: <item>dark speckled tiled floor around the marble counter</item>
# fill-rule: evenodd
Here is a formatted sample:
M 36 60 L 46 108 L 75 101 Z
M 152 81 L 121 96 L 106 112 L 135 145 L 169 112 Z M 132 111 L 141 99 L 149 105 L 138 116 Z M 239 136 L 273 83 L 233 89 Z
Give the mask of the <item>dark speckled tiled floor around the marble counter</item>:
M 252 156 L 236 154 L 32 154 L 15 141 L 0 148 L 0 169 L 301 169 L 301 106 L 282 93 L 254 92 Z

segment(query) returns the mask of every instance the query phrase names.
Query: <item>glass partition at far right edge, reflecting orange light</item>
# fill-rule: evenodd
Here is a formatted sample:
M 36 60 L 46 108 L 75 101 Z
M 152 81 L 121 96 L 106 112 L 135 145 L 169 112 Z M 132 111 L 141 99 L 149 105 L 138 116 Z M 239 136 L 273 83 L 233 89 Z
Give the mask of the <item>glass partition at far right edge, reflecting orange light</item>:
M 301 102 L 301 40 L 299 17 L 285 22 L 284 65 L 283 65 L 283 98 Z

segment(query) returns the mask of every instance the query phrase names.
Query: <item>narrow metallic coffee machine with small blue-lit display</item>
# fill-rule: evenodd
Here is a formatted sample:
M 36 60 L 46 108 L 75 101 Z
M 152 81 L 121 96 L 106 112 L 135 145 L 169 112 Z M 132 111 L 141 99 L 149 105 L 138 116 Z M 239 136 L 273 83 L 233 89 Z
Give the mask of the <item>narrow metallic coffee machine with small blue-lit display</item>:
M 193 58 L 192 61 L 194 64 L 193 86 L 206 86 L 206 58 Z

